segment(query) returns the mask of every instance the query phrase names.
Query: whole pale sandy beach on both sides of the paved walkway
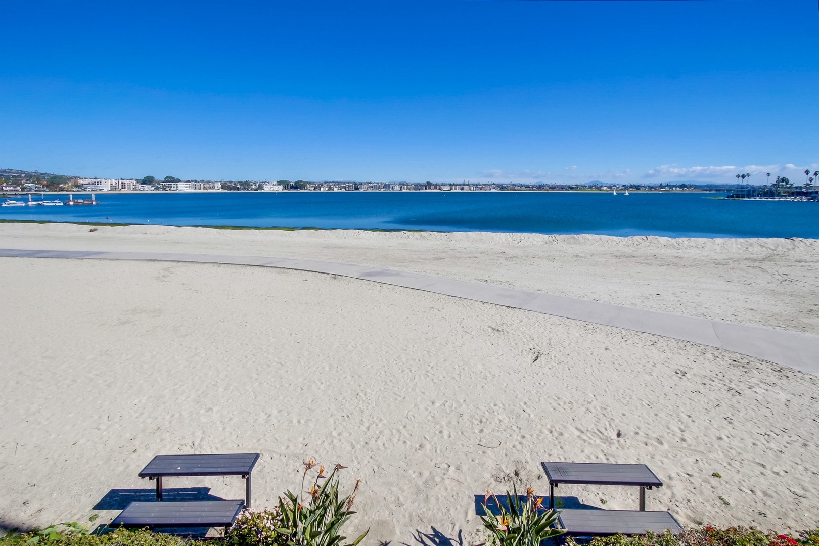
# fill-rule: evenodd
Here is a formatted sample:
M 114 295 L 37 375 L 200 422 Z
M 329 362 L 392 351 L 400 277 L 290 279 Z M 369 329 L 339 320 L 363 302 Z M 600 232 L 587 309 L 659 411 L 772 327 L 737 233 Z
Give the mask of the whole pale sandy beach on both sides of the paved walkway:
M 0 247 L 323 259 L 819 333 L 819 241 L 0 224 Z M 260 452 L 254 508 L 315 457 L 365 544 L 480 542 L 475 495 L 542 460 L 646 463 L 684 525 L 816 526 L 819 381 L 685 341 L 235 265 L 0 259 L 0 525 L 110 521 L 158 453 Z M 714 472 L 721 478 L 712 476 Z M 233 499 L 238 478 L 169 480 Z M 636 508 L 637 491 L 561 487 Z

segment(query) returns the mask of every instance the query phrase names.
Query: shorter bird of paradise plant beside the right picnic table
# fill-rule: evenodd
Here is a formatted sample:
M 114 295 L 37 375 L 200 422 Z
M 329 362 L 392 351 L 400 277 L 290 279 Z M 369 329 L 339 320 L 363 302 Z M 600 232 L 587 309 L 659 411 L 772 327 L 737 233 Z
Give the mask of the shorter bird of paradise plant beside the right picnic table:
M 486 508 L 486 501 L 494 499 L 500 514 L 493 514 Z M 563 530 L 552 529 L 558 514 L 552 509 L 543 511 L 541 502 L 535 499 L 532 488 L 526 490 L 526 501 L 518 498 L 518 489 L 512 485 L 512 493 L 506 492 L 507 505 L 486 492 L 483 509 L 486 515 L 481 516 L 484 529 L 489 532 L 489 544 L 492 546 L 540 546 L 541 542 L 554 536 L 563 535 Z

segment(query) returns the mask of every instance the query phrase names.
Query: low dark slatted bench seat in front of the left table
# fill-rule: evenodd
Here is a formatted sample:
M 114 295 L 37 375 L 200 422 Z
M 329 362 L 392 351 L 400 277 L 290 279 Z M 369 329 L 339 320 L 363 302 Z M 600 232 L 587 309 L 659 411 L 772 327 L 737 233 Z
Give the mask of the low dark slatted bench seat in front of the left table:
M 111 527 L 224 527 L 242 512 L 243 500 L 159 501 L 130 503 Z

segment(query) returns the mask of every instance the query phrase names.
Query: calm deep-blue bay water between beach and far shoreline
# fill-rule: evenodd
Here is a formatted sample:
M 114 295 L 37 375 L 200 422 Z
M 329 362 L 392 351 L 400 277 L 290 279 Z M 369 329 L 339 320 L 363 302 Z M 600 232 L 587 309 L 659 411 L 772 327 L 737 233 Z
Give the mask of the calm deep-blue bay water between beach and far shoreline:
M 0 219 L 174 226 L 819 238 L 819 203 L 708 198 L 722 195 L 703 192 L 632 193 L 630 196 L 602 192 L 97 193 L 101 205 L 0 207 Z M 77 197 L 87 196 L 75 194 Z

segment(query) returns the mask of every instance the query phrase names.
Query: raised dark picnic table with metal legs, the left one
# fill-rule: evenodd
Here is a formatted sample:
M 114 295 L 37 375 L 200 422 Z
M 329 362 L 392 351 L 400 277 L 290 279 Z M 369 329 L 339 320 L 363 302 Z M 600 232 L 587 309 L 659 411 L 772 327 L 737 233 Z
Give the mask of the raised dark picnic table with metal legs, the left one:
M 245 506 L 251 506 L 251 472 L 259 453 L 209 455 L 156 455 L 138 476 L 156 480 L 156 500 L 162 500 L 162 478 L 170 476 L 242 476 L 245 483 Z M 236 501 L 212 501 L 236 502 Z M 156 504 L 156 503 L 152 503 Z M 179 504 L 179 503 L 174 503 Z M 204 507 L 204 505 L 202 505 Z M 128 508 L 126 508 L 127 510 Z M 121 515 L 121 514 L 120 514 Z

